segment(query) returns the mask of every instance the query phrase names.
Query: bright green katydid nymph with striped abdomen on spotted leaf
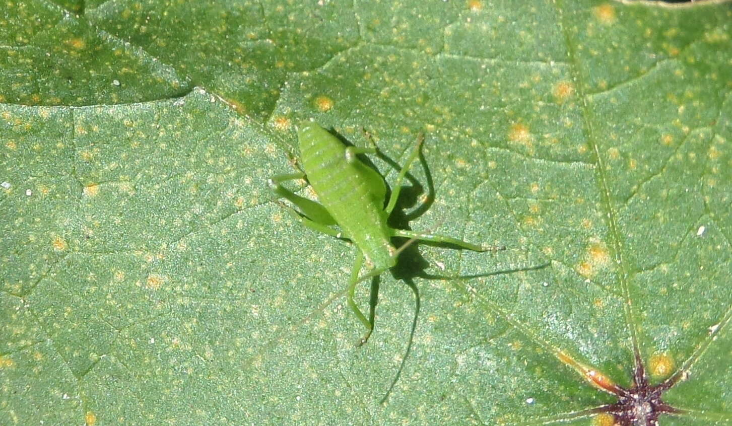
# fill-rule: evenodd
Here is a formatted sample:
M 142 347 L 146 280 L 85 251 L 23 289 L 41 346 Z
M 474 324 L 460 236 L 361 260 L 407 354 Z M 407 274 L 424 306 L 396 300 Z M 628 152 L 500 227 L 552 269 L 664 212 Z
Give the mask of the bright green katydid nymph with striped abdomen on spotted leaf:
M 449 236 L 394 229 L 387 225 L 386 220 L 399 198 L 402 180 L 419 154 L 422 136 L 399 172 L 386 206 L 384 179 L 356 157 L 357 154 L 377 154 L 375 145 L 370 148 L 346 146 L 317 123 L 307 121 L 300 124 L 297 137 L 303 171 L 272 176 L 268 184 L 277 195 L 287 198 L 299 209 L 299 213 L 291 208 L 288 208 L 288 212 L 300 223 L 330 236 L 350 239 L 356 245 L 356 261 L 348 280 L 346 294 L 348 306 L 367 329 L 360 345 L 368 340 L 373 324 L 354 302 L 356 284 L 395 266 L 397 256 L 409 242 L 397 250 L 392 245 L 392 236 L 455 244 L 480 252 L 496 250 Z M 280 184 L 292 179 L 306 178 L 321 203 L 296 195 Z M 340 230 L 332 228 L 334 225 Z M 364 261 L 370 271 L 359 277 Z

